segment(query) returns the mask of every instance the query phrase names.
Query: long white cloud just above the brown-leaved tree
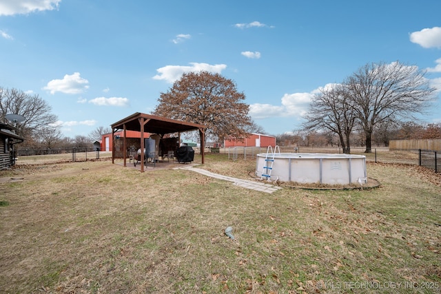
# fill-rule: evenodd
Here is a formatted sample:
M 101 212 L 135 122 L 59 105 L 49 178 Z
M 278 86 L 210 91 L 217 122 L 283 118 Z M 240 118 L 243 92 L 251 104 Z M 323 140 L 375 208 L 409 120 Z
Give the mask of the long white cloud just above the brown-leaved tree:
M 214 72 L 216 74 L 220 74 L 225 68 L 227 68 L 227 65 L 225 64 L 215 64 L 210 65 L 208 63 L 190 63 L 190 66 L 185 65 L 165 65 L 164 67 L 159 67 L 156 72 L 159 74 L 156 74 L 153 78 L 155 80 L 165 80 L 168 83 L 173 83 L 178 78 L 181 78 L 182 74 L 185 72 Z

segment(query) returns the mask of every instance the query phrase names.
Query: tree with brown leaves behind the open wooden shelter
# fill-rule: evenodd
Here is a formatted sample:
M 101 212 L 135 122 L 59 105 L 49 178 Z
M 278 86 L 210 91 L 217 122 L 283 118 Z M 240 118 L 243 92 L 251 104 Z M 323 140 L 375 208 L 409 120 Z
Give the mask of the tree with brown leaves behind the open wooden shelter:
M 206 138 L 242 138 L 252 125 L 249 105 L 240 102 L 244 100 L 245 94 L 232 80 L 205 71 L 189 72 L 161 93 L 153 114 L 205 125 Z

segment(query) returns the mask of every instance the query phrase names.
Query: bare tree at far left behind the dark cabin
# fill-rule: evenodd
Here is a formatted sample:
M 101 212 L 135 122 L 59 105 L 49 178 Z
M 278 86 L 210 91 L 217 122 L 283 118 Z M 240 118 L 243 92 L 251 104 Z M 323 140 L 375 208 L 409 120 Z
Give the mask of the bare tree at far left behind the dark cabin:
M 32 141 L 50 124 L 57 121 L 52 109 L 37 94 L 28 94 L 17 89 L 0 87 L 0 120 L 6 122 L 6 114 L 19 114 L 25 120 L 17 124 L 17 134 Z

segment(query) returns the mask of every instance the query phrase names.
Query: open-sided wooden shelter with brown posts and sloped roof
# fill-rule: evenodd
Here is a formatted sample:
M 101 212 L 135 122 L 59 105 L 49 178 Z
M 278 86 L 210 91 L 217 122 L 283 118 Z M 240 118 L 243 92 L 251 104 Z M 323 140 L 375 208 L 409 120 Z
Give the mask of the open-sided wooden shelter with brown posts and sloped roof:
M 131 116 L 127 116 L 122 120 L 119 120 L 112 125 L 112 134 L 122 129 L 124 132 L 123 139 L 123 150 L 127 149 L 125 144 L 125 132 L 127 130 L 130 131 L 138 131 L 141 132 L 141 158 L 144 158 L 144 132 L 159 134 L 161 136 L 165 134 L 178 133 L 179 138 L 181 138 L 182 132 L 189 132 L 195 129 L 199 130 L 199 134 L 201 134 L 201 155 L 202 155 L 202 164 L 205 163 L 204 156 L 204 148 L 205 148 L 205 125 L 199 125 L 197 123 L 188 123 L 182 120 L 174 120 L 171 118 L 163 118 L 161 116 L 153 116 L 150 114 L 142 114 L 141 112 L 136 112 Z M 112 163 L 114 163 L 115 157 L 115 144 L 114 138 L 112 136 Z M 124 158 L 124 166 L 127 166 L 127 154 L 123 152 Z M 144 172 L 144 165 L 141 165 L 141 172 Z

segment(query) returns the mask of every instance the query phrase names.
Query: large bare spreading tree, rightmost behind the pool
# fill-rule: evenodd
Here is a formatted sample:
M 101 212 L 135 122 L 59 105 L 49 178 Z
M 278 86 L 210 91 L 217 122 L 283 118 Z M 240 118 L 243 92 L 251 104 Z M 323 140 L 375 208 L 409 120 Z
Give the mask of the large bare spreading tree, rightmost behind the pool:
M 418 120 L 434 99 L 425 72 L 416 66 L 393 62 L 371 63 L 345 81 L 353 111 L 365 133 L 366 153 L 371 152 L 374 127 L 379 123 Z

